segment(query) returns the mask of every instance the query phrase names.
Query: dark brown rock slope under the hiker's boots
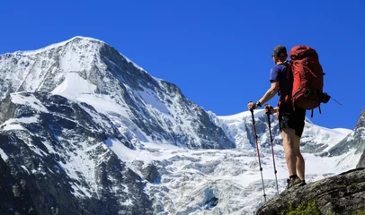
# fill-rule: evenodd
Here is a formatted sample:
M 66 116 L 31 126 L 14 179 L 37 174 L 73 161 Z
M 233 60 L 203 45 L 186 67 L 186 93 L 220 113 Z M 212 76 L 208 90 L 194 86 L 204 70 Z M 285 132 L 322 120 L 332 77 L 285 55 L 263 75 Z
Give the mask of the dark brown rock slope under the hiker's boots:
M 256 214 L 280 214 L 302 202 L 316 200 L 322 214 L 346 214 L 365 208 L 365 168 L 352 169 L 338 176 L 331 176 L 302 187 L 292 187 L 273 197 L 260 207 Z

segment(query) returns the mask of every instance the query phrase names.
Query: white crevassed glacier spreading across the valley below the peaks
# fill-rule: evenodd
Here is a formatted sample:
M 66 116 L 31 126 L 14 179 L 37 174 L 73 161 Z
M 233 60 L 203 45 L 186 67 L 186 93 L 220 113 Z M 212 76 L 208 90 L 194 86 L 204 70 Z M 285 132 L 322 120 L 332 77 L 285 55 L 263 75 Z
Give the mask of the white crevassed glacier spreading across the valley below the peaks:
M 165 207 L 158 214 L 253 214 L 264 201 L 255 150 L 186 150 L 148 142 L 141 143 L 142 149 L 129 150 L 116 144 L 111 150 L 130 165 L 141 160 L 154 162 L 159 168 L 161 183 L 148 185 L 156 203 Z M 307 183 L 355 168 L 361 154 L 353 153 L 333 158 L 304 153 Z M 265 193 L 270 199 L 276 194 L 272 154 L 263 154 L 261 160 Z M 282 192 L 288 173 L 281 151 L 275 160 Z M 213 197 L 218 198 L 215 207 L 210 205 Z

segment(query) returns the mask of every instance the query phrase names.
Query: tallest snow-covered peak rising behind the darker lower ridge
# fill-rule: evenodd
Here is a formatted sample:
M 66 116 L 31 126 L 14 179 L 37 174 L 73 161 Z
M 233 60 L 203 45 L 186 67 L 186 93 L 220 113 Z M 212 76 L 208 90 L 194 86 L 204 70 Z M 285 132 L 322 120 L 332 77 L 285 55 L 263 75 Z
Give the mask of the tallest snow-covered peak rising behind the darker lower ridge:
M 173 83 L 150 76 L 113 47 L 76 37 L 0 58 L 0 97 L 47 91 L 85 101 L 120 127 L 130 142 L 233 148 L 207 113 Z

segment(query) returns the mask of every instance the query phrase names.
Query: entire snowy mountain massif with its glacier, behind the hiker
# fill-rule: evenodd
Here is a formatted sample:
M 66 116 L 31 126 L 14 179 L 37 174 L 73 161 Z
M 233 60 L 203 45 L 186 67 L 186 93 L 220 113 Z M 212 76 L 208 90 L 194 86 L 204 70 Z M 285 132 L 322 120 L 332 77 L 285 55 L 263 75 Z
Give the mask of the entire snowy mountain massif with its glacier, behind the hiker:
M 251 113 L 216 116 L 101 40 L 4 54 L 0 86 L 0 161 L 11 170 L 0 181 L 29 193 L 40 214 L 252 214 L 263 202 Z M 254 117 L 270 198 L 267 116 Z M 282 191 L 288 173 L 271 122 Z M 351 133 L 307 121 L 308 182 L 356 166 L 354 150 L 323 154 Z M 21 210 L 5 205 L 4 214 Z

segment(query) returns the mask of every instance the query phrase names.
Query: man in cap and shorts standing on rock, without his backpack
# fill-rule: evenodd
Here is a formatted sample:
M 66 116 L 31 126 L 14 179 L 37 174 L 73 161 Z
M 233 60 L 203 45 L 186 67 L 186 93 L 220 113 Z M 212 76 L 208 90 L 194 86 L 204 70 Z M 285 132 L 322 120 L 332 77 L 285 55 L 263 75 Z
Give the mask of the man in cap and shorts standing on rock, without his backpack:
M 278 114 L 282 146 L 285 152 L 285 159 L 288 166 L 289 178 L 287 189 L 293 185 L 306 185 L 305 161 L 300 153 L 300 138 L 303 133 L 306 109 L 295 107 L 291 102 L 293 88 L 293 74 L 287 70 L 287 48 L 284 46 L 274 47 L 272 59 L 275 65 L 272 67 L 270 82 L 272 86 L 257 102 L 249 102 L 248 109 L 262 107 L 263 104 L 272 99 L 276 94 L 280 96 L 278 107 L 265 105 L 265 112 Z

